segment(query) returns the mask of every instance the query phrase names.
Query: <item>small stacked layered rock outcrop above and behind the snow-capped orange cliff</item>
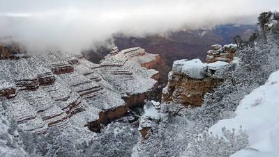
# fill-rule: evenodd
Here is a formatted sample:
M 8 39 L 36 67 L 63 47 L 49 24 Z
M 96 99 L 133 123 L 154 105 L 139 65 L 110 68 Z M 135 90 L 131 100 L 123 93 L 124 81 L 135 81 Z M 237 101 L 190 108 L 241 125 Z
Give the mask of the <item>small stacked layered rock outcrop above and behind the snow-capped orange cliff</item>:
M 225 44 L 222 47 L 220 44 L 212 45 L 212 49 L 207 51 L 206 62 L 214 63 L 216 61 L 232 62 L 236 53 L 236 44 Z

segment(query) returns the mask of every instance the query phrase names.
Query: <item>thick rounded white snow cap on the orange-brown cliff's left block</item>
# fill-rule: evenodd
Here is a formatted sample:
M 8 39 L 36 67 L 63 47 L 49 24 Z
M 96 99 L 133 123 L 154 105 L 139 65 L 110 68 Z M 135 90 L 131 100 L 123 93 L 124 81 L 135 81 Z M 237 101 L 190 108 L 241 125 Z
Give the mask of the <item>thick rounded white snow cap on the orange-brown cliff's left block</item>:
M 199 59 L 185 62 L 181 67 L 181 73 L 190 78 L 202 79 L 205 77 L 207 66 Z

